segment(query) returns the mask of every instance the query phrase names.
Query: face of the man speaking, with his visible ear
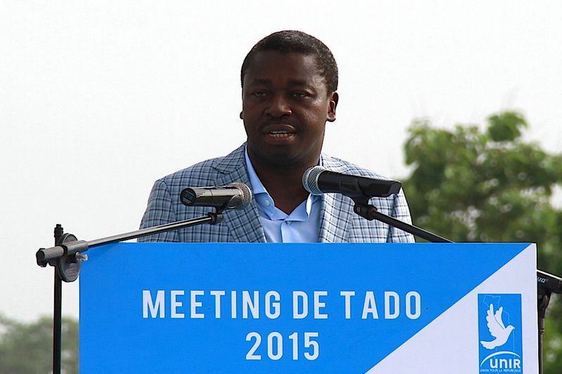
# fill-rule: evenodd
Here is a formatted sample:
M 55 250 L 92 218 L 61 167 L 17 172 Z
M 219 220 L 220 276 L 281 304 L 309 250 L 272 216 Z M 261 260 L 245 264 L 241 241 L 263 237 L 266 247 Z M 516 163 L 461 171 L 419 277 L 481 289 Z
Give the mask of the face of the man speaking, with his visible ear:
M 242 119 L 248 154 L 260 166 L 318 163 L 326 121 L 335 121 L 337 93 L 328 93 L 313 55 L 258 52 L 244 74 Z

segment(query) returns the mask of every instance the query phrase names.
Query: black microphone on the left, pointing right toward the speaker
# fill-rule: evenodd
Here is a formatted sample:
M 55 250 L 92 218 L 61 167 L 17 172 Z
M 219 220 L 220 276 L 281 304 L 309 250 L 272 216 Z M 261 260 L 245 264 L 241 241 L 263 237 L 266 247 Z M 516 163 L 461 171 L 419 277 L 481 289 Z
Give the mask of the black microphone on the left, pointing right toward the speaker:
M 213 206 L 217 210 L 244 209 L 251 201 L 250 187 L 244 183 L 227 186 L 186 188 L 180 193 L 185 206 Z

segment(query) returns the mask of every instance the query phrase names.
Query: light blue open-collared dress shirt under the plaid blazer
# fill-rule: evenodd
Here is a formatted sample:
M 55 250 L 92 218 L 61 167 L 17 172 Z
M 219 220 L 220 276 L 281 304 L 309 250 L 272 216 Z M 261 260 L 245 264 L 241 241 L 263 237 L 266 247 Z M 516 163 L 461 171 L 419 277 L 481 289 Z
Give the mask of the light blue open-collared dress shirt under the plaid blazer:
M 294 208 L 290 214 L 275 207 L 275 201 L 263 187 L 246 149 L 246 168 L 251 192 L 258 205 L 259 220 L 266 233 L 268 243 L 315 243 L 320 230 L 320 196 L 309 194 L 308 198 Z M 320 162 L 322 162 L 320 160 Z

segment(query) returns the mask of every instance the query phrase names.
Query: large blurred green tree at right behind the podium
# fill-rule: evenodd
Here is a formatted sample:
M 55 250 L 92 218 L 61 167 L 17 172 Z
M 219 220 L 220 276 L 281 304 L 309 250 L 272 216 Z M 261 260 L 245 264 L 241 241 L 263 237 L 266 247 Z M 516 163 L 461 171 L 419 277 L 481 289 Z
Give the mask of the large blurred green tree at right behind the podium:
M 562 211 L 551 204 L 562 185 L 562 154 L 521 139 L 518 112 L 488 117 L 487 126 L 432 128 L 420 119 L 408 129 L 403 185 L 414 225 L 452 241 L 533 242 L 538 267 L 562 275 Z M 544 336 L 544 373 L 562 368 L 562 302 L 551 301 Z

